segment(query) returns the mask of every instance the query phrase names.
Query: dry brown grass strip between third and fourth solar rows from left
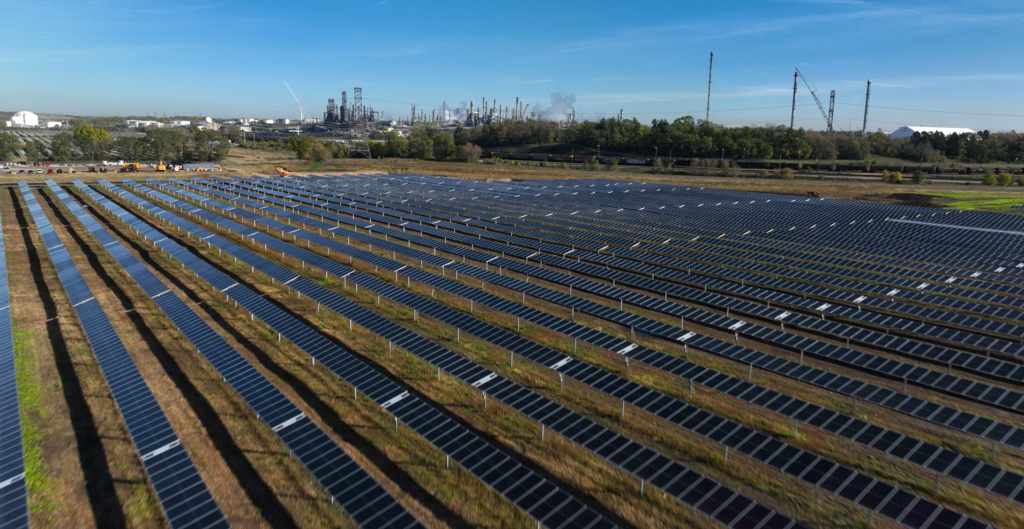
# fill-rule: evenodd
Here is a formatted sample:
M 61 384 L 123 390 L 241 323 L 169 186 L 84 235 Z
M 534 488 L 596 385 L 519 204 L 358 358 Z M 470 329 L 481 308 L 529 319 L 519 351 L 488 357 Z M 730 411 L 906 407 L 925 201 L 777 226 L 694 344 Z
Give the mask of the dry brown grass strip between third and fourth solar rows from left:
M 93 213 L 98 212 L 99 208 L 93 209 Z M 106 223 L 112 220 L 105 213 L 101 217 Z M 109 227 L 116 226 L 117 224 L 109 224 Z M 429 443 L 406 428 L 395 433 L 389 414 L 361 396 L 358 401 L 353 402 L 350 388 L 346 385 L 339 387 L 336 376 L 319 365 L 310 366 L 304 352 L 287 341 L 279 343 L 275 333 L 261 322 L 251 322 L 247 312 L 234 309 L 231 303 L 225 303 L 215 294 L 211 295 L 209 286 L 199 282 L 187 270 L 181 270 L 175 261 L 147 249 L 146 243 L 139 235 L 124 230 L 118 236 L 134 244 L 136 252 L 145 252 L 148 259 L 159 263 L 159 267 L 155 267 L 159 270 L 158 273 L 173 277 L 178 288 L 188 293 L 189 303 L 198 302 L 203 307 L 200 314 L 208 321 L 211 314 L 216 314 L 215 324 L 211 324 L 222 334 L 228 328 L 231 337 L 229 341 L 241 342 L 244 347 L 240 351 L 250 361 L 321 424 L 419 519 L 431 527 L 529 525 L 525 515 L 469 473 L 457 467 L 450 472 L 444 471 L 443 455 Z M 190 240 L 179 239 L 179 243 L 188 246 Z M 204 252 L 204 255 L 218 262 L 216 252 Z M 226 259 L 219 261 L 219 264 L 243 281 L 252 277 L 246 265 L 236 265 Z M 256 284 L 257 291 L 265 289 L 279 294 L 276 288 L 280 285 L 272 285 L 269 280 L 265 282 L 266 284 Z M 313 316 L 315 306 L 311 312 L 312 314 L 306 315 L 307 320 L 314 326 L 326 329 L 329 325 Z M 344 346 L 359 351 L 386 350 L 379 340 L 368 334 L 342 338 L 345 338 L 342 340 Z M 315 487 L 314 484 L 312 486 Z M 327 504 L 326 494 L 314 492 L 319 501 Z M 289 494 L 287 491 L 283 493 L 286 496 Z M 336 508 L 334 510 L 338 511 Z M 301 524 L 303 526 L 328 523 L 308 517 L 303 520 L 308 520 L 308 524 Z

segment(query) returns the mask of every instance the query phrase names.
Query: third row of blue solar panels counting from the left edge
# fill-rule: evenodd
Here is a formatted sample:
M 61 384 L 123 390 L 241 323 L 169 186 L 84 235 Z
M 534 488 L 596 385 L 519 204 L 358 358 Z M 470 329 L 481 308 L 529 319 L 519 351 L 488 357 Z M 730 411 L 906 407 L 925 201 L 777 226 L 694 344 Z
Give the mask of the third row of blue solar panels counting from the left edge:
M 318 426 L 311 422 L 274 385 L 206 323 L 167 285 L 111 236 L 52 180 L 47 185 L 72 214 L 96 237 L 124 270 L 166 314 L 174 325 L 217 369 L 223 380 L 252 407 L 285 443 L 289 451 L 316 478 L 359 527 L 423 527 L 374 478 L 359 467 Z M 145 230 L 128 212 L 80 180 L 75 185 L 134 229 Z M 134 222 L 132 222 L 134 221 Z M 152 228 L 151 228 L 152 229 Z M 228 290 L 227 292 L 230 292 Z

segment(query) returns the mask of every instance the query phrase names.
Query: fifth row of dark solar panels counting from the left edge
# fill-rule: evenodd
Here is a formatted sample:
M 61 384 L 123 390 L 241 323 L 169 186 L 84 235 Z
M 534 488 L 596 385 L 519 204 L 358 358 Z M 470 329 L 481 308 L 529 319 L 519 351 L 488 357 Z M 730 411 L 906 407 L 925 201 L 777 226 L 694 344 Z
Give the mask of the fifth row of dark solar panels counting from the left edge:
M 157 184 L 160 186 L 164 185 Z M 144 186 L 135 185 L 135 187 L 140 190 L 146 190 Z M 180 208 L 190 208 L 187 204 L 162 193 L 152 190 L 148 190 L 148 192 Z M 213 203 L 211 202 L 210 204 Z M 223 205 L 214 206 L 223 207 Z M 242 210 L 231 209 L 230 207 L 226 207 L 225 209 L 228 212 L 240 215 L 246 213 Z M 361 273 L 353 274 L 351 273 L 351 269 L 346 266 L 334 263 L 329 259 L 316 256 L 302 249 L 292 247 L 287 243 L 260 233 L 241 223 L 201 209 L 187 209 L 187 211 L 191 215 L 205 219 L 207 222 L 213 222 L 218 226 L 244 234 L 244 236 L 253 240 L 254 245 L 258 246 L 262 244 L 267 249 L 281 251 L 283 254 L 302 259 L 304 263 L 308 262 L 310 265 L 319 267 L 325 271 L 333 272 L 339 277 L 344 277 L 346 281 L 366 284 L 375 292 L 382 292 L 382 286 L 385 285 L 385 283 L 378 279 Z M 186 227 L 185 224 L 181 224 L 181 226 Z M 284 232 L 284 229 L 291 229 L 290 226 L 282 223 L 275 224 L 274 227 L 281 229 L 282 232 Z M 197 228 L 190 226 L 186 227 L 186 229 L 191 231 Z M 332 240 L 327 238 L 323 238 L 322 243 L 333 244 Z M 223 248 L 229 255 L 254 265 L 256 269 L 270 276 L 285 277 L 289 274 L 282 267 L 252 255 L 247 251 L 237 252 L 229 247 L 220 248 Z M 360 258 L 373 259 L 369 256 L 360 256 Z M 396 263 L 389 260 L 381 259 L 376 262 L 379 262 L 381 266 L 387 267 L 387 269 L 400 270 L 403 268 L 401 265 L 395 266 Z M 562 433 L 570 440 L 580 443 L 601 457 L 607 458 L 611 462 L 635 474 L 639 479 L 649 481 L 651 484 L 663 488 L 666 492 L 712 516 L 726 526 L 796 526 L 796 522 L 793 520 L 774 513 L 770 509 L 758 505 L 752 499 L 716 483 L 714 480 L 705 478 L 665 455 L 631 441 L 580 413 L 570 411 L 550 399 L 485 369 L 451 350 L 431 343 L 396 323 L 364 309 L 341 296 L 329 292 L 308 279 L 298 277 L 289 280 L 288 284 L 299 293 L 323 304 L 325 307 L 352 319 L 360 326 L 388 340 L 389 343 L 393 343 L 437 366 L 439 369 L 443 369 L 445 372 L 452 373 L 467 384 L 471 384 L 487 396 L 505 402 L 555 432 Z M 468 330 L 473 332 L 475 329 L 470 328 Z M 564 364 L 565 362 L 562 363 Z M 686 406 L 682 403 L 679 404 Z

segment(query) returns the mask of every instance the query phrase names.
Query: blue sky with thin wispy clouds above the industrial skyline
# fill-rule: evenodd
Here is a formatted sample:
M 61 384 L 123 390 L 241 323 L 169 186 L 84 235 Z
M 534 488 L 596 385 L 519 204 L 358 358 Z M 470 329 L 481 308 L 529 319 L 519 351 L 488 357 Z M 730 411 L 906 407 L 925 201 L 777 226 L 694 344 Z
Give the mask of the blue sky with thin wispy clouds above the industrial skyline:
M 579 118 L 788 124 L 794 68 L 837 128 L 1024 129 L 1024 5 L 860 0 L 0 0 L 0 109 L 316 116 L 360 86 L 387 116 L 482 97 Z M 489 104 L 489 102 L 488 102 Z M 801 84 L 797 125 L 824 120 Z M 921 112 L 932 111 L 932 112 Z

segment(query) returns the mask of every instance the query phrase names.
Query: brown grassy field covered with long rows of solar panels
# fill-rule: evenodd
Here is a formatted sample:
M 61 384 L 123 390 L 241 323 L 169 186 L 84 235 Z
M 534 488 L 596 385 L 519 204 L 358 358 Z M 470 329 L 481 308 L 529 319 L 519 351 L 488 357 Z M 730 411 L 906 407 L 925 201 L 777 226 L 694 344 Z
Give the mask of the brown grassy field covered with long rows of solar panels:
M 32 527 L 179 526 L 56 236 L 233 527 L 1024 528 L 1024 222 L 996 214 L 1021 188 L 223 169 L 0 196 Z M 345 492 L 254 377 L 352 461 Z

